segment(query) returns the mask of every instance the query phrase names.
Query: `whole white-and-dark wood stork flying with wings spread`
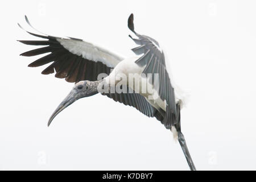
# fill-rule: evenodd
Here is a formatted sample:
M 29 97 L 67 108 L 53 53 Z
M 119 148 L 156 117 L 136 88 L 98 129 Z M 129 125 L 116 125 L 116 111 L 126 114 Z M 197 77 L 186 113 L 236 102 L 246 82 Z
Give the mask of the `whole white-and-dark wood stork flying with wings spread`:
M 27 16 L 25 19 L 31 26 Z M 41 32 L 39 35 L 27 31 L 28 34 L 45 40 L 18 40 L 27 45 L 45 46 L 24 52 L 21 54 L 22 56 L 49 53 L 32 62 L 28 67 L 40 67 L 52 62 L 43 70 L 42 74 L 56 73 L 55 77 L 57 78 L 76 82 L 71 92 L 49 118 L 48 126 L 57 114 L 76 100 L 100 92 L 114 101 L 133 106 L 148 117 L 155 117 L 162 122 L 166 129 L 171 130 L 174 137 L 179 140 L 190 169 L 196 170 L 184 135 L 181 133 L 180 109 L 183 100 L 177 97 L 177 90 L 171 83 L 166 69 L 164 53 L 156 40 L 135 32 L 133 19 L 134 16 L 131 14 L 128 19 L 128 27 L 137 38 L 129 36 L 139 45 L 132 49 L 137 55 L 134 57 L 124 58 L 117 53 L 81 39 L 58 38 L 46 34 L 42 35 Z M 20 26 L 20 24 L 18 25 Z M 22 27 L 20 26 L 20 28 Z M 111 69 L 113 69 L 112 72 Z M 106 76 L 99 80 L 98 75 L 101 73 L 105 73 Z M 123 90 L 121 90 L 122 92 L 111 92 L 113 86 L 119 84 L 118 74 L 124 75 L 127 79 L 137 75 L 132 81 L 123 81 L 123 77 L 121 78 L 120 88 L 126 88 L 126 92 Z M 152 92 L 147 89 L 148 87 L 143 92 L 141 86 L 143 84 L 151 85 Z

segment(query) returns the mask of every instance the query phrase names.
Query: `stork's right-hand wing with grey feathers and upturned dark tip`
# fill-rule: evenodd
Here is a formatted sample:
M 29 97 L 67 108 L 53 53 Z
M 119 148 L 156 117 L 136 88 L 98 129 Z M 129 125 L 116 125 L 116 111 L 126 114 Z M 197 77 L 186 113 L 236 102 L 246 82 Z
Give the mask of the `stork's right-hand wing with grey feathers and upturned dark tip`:
M 156 40 L 146 35 L 140 35 L 134 31 L 133 14 L 131 14 L 128 19 L 128 27 L 138 37 L 138 39 L 134 39 L 129 35 L 136 44 L 139 44 L 139 47 L 133 48 L 132 51 L 137 55 L 143 54 L 135 63 L 140 67 L 145 67 L 143 73 L 152 74 L 152 85 L 154 85 L 156 81 L 155 74 L 159 76 L 159 89 L 157 90 L 160 98 L 166 101 L 166 113 L 164 117 L 161 117 L 158 113 L 159 116 L 156 118 L 158 118 L 167 129 L 170 129 L 171 126 L 176 125 L 177 111 L 174 88 L 171 85 L 170 77 L 166 70 L 164 53 Z

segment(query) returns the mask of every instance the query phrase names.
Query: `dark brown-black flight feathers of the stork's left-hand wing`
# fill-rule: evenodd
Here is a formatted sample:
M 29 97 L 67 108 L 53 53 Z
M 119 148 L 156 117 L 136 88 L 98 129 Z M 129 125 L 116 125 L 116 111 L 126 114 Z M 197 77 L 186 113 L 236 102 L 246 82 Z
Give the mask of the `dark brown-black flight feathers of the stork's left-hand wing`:
M 27 16 L 25 16 L 26 22 L 31 26 Z M 18 23 L 18 26 L 24 30 Z M 32 26 L 31 26 L 32 27 Z M 36 30 L 34 27 L 32 27 Z M 24 30 L 26 31 L 26 30 Z M 36 30 L 37 31 L 37 30 Z M 28 67 L 40 67 L 42 65 L 50 64 L 46 69 L 43 70 L 43 75 L 56 73 L 55 77 L 65 78 L 68 82 L 78 82 L 81 80 L 96 81 L 100 73 L 106 73 L 109 75 L 112 67 L 101 63 L 100 61 L 92 61 L 85 59 L 82 55 L 76 55 L 65 49 L 57 39 L 61 39 L 50 35 L 39 35 L 32 32 L 26 31 L 28 34 L 36 36 L 38 38 L 47 40 L 18 40 L 19 42 L 31 46 L 45 46 L 31 51 L 20 54 L 21 56 L 36 56 L 43 53 L 49 53 L 46 56 L 39 58 L 32 62 Z M 43 34 L 43 33 L 42 33 Z M 83 42 L 81 39 L 69 38 L 67 40 L 74 40 L 76 42 Z

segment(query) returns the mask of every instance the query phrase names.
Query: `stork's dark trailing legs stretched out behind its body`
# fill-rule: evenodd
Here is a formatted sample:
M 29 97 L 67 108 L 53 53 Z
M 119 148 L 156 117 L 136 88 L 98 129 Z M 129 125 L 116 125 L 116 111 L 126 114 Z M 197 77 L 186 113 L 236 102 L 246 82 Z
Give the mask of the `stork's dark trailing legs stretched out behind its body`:
M 193 163 L 191 155 L 189 154 L 188 147 L 187 147 L 184 135 L 181 133 L 181 128 L 180 128 L 180 106 L 179 106 L 179 104 L 177 104 L 177 125 L 175 125 L 175 127 L 176 127 L 176 130 L 177 130 L 177 138 L 179 140 L 179 143 L 180 143 L 182 151 L 185 155 L 185 158 L 187 159 L 188 166 L 191 169 L 191 171 L 196 171 L 196 167 Z

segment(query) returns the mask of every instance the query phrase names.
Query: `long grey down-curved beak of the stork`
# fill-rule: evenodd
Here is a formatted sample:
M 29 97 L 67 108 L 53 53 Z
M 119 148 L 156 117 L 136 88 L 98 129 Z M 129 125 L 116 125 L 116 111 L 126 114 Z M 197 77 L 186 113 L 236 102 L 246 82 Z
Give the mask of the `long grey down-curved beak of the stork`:
M 71 105 L 73 102 L 75 102 L 78 99 L 79 97 L 77 96 L 77 93 L 74 90 L 71 90 L 68 96 L 65 97 L 65 99 L 60 103 L 60 105 L 57 107 L 57 109 L 53 112 L 53 114 L 49 118 L 48 126 L 51 124 L 53 118 L 55 118 L 57 114 L 59 114 L 61 111 L 63 111 L 65 108 L 67 108 L 69 105 Z

